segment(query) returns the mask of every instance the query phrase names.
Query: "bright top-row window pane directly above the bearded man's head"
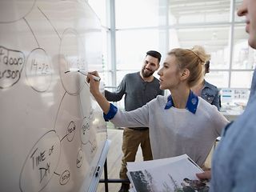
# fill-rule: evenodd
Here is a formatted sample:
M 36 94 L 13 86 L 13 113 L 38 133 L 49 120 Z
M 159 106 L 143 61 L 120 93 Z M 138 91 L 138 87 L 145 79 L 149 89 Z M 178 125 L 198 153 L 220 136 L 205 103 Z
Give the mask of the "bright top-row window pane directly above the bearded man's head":
M 158 26 L 159 0 L 115 1 L 116 28 Z

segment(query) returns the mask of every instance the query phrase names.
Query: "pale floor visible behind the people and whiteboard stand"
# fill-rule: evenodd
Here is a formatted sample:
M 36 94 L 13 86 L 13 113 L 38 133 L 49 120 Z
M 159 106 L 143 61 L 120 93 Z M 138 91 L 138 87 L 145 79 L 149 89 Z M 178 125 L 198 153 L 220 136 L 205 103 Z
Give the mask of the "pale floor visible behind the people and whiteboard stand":
M 122 160 L 122 130 L 109 128 L 108 130 L 108 139 L 110 139 L 110 149 L 107 155 L 107 169 L 108 169 L 108 178 L 109 179 L 118 179 L 119 178 L 119 170 L 121 167 Z M 206 166 L 210 167 L 210 159 L 213 153 L 213 149 L 210 152 L 207 160 Z M 142 161 L 142 151 L 138 150 L 138 154 L 136 156 L 136 162 Z M 101 178 L 104 178 L 104 172 L 102 172 Z M 121 183 L 108 183 L 108 191 L 109 192 L 118 192 L 120 189 Z M 98 183 L 97 192 L 105 192 L 104 183 Z

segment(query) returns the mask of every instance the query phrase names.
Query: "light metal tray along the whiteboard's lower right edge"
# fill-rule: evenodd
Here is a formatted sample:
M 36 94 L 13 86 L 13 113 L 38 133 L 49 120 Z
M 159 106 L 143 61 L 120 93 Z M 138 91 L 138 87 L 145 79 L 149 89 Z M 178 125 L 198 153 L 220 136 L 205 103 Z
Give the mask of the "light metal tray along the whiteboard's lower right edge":
M 110 140 L 106 140 L 105 146 L 103 147 L 103 150 L 102 150 L 101 157 L 99 158 L 99 161 L 98 161 L 98 167 L 96 168 L 95 173 L 94 173 L 94 179 L 90 183 L 90 187 L 88 190 L 90 192 L 97 190 L 99 178 L 102 175 L 102 170 L 103 170 L 102 167 L 103 167 L 104 162 L 106 164 L 106 156 L 108 154 L 109 148 L 110 148 Z M 107 172 L 105 171 L 105 166 L 104 166 L 104 175 L 106 175 L 105 173 L 107 173 Z M 106 177 L 107 177 L 107 175 L 106 175 Z

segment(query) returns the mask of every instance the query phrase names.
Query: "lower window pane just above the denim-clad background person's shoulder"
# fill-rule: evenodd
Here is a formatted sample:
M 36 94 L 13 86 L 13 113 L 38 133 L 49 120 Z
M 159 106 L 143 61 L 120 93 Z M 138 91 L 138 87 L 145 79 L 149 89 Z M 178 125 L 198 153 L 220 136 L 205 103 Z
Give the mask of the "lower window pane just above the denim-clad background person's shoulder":
M 205 79 L 207 82 L 210 82 L 214 86 L 217 86 L 218 89 L 229 86 L 229 73 L 227 71 L 210 70 L 210 73 L 206 74 Z

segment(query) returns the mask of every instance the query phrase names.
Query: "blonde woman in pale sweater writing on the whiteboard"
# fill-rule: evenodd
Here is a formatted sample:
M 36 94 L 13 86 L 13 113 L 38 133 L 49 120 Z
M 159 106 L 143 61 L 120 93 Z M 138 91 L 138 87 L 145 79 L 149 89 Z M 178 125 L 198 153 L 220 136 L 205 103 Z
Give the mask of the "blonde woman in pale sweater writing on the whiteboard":
M 203 166 L 215 139 L 228 123 L 215 106 L 190 90 L 202 82 L 209 57 L 201 46 L 171 50 L 158 71 L 160 89 L 170 90 L 170 95 L 158 96 L 137 110 L 123 112 L 107 102 L 98 89 L 99 83 L 90 75 L 98 76 L 96 71 L 88 75 L 90 92 L 106 120 L 116 126 L 150 128 L 154 159 L 188 154 L 198 166 Z

